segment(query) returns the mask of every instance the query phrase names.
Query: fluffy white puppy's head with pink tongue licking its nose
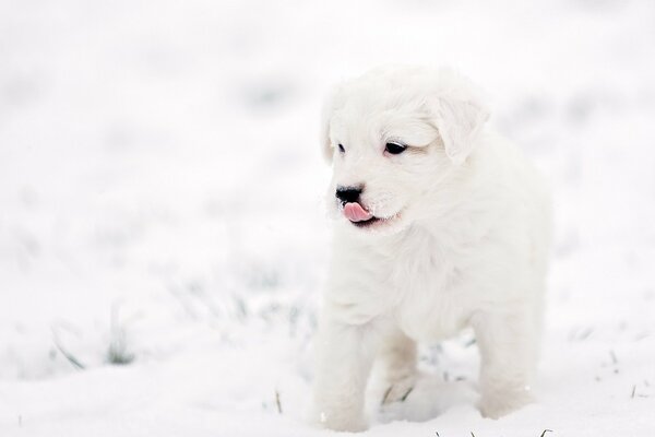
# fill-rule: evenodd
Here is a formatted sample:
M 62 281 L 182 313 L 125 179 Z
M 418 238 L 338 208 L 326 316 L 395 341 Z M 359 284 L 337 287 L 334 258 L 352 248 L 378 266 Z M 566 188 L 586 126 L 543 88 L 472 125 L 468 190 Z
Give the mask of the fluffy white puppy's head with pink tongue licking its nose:
M 337 86 L 323 109 L 333 211 L 353 228 L 398 232 L 465 165 L 488 113 L 450 70 L 383 68 Z

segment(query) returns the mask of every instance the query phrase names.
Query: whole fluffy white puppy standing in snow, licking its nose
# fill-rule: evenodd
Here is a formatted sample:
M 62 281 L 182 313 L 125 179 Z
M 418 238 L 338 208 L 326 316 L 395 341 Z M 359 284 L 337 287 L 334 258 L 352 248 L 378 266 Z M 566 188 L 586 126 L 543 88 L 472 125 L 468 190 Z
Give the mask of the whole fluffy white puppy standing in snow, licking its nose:
M 549 197 L 487 119 L 472 84 L 450 70 L 377 69 L 329 99 L 323 146 L 338 220 L 317 338 L 314 403 L 324 427 L 367 427 L 376 357 L 390 386 L 409 388 L 415 342 L 466 327 L 481 355 L 483 415 L 531 401 Z

